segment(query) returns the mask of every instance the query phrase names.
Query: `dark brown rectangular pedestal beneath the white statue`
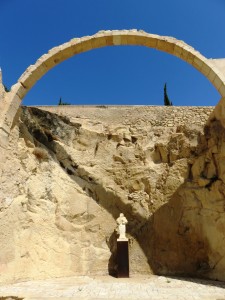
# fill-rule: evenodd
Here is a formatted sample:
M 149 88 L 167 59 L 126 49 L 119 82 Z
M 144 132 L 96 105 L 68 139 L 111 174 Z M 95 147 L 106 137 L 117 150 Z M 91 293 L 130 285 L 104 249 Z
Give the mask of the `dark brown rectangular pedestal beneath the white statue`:
M 128 239 L 117 239 L 117 277 L 129 278 Z

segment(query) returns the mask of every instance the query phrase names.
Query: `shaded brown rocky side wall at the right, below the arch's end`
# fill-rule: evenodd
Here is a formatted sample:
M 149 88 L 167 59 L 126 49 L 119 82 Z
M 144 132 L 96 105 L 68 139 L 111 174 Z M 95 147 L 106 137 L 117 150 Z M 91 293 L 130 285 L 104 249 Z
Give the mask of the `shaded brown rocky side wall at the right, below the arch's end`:
M 225 129 L 212 119 L 189 159 L 189 175 L 152 220 L 157 273 L 225 279 Z

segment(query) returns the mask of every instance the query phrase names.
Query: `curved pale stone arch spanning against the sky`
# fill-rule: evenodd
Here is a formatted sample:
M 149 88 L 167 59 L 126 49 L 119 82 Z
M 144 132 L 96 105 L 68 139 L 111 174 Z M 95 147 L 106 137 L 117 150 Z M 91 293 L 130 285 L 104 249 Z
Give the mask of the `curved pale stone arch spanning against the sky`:
M 30 65 L 26 69 L 18 82 L 12 86 L 11 92 L 6 94 L 3 99 L 1 131 L 4 131 L 6 135 L 9 134 L 22 99 L 51 68 L 76 54 L 95 48 L 117 45 L 146 46 L 175 55 L 200 71 L 215 86 L 221 96 L 225 97 L 225 72 L 218 67 L 219 60 L 207 59 L 185 42 L 142 30 L 99 31 L 92 36 L 74 38 L 52 48 L 47 54 L 42 55 L 34 65 Z

